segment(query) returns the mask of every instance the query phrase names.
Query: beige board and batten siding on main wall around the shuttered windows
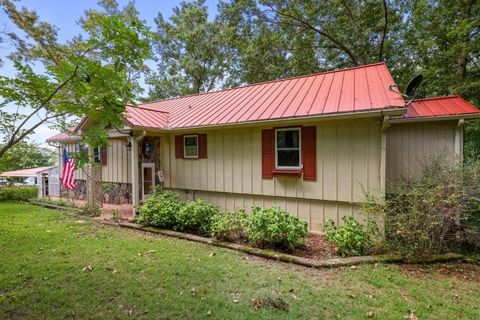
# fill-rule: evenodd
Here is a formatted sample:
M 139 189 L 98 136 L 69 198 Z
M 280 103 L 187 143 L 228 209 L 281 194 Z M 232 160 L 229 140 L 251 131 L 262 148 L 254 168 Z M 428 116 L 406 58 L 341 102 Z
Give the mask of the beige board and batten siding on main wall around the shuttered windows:
M 202 131 L 207 133 L 207 159 L 176 159 L 175 136 L 162 137 L 165 186 L 223 210 L 278 205 L 307 221 L 311 230 L 321 230 L 327 219 L 341 223 L 341 216 L 358 214 L 364 190 L 380 190 L 381 121 L 316 125 L 316 181 L 262 179 L 261 132 L 270 126 Z

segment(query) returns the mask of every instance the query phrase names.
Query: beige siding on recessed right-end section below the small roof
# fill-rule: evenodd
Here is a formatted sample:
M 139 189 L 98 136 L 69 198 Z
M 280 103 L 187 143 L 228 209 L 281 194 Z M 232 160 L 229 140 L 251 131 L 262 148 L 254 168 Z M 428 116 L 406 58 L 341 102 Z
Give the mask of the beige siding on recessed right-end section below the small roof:
M 445 158 L 452 164 L 458 160 L 457 128 L 458 120 L 393 123 L 387 131 L 387 192 L 394 191 L 402 179 L 421 175 L 436 159 Z

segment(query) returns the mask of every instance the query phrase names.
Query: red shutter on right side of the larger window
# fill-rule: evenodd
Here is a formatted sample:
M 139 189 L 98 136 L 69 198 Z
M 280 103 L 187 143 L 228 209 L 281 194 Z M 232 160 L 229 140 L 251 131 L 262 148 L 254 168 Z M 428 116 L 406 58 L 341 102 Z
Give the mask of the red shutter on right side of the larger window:
M 317 180 L 317 127 L 302 127 L 303 179 Z

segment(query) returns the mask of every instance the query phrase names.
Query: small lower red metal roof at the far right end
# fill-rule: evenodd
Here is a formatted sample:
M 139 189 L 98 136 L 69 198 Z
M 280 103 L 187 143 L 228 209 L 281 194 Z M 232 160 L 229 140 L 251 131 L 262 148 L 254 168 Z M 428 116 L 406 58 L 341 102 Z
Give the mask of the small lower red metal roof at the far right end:
M 418 99 L 410 103 L 405 118 L 479 114 L 480 110 L 459 96 Z

